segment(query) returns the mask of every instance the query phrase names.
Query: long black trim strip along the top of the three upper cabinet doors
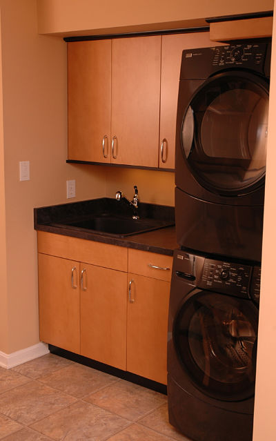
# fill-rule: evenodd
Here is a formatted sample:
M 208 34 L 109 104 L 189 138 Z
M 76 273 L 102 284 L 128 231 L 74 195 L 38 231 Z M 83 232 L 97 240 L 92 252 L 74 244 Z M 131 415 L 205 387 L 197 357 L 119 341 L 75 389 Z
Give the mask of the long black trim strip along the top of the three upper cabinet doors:
M 121 34 L 106 34 L 106 35 L 79 35 L 76 37 L 64 37 L 66 43 L 73 41 L 90 41 L 90 40 L 106 40 L 117 38 L 130 37 L 148 37 L 150 35 L 171 35 L 171 34 L 188 34 L 190 32 L 209 32 L 209 26 L 197 26 L 195 28 L 177 28 L 177 29 L 162 29 L 162 30 L 148 30 L 141 32 L 126 32 Z

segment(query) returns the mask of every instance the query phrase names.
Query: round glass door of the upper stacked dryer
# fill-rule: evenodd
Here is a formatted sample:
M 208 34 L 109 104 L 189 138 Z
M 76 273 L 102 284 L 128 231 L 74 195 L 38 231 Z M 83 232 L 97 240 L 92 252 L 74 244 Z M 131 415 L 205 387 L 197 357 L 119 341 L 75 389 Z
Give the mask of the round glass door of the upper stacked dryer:
M 213 193 L 247 194 L 264 184 L 268 84 L 242 70 L 220 73 L 195 92 L 181 146 L 195 179 Z

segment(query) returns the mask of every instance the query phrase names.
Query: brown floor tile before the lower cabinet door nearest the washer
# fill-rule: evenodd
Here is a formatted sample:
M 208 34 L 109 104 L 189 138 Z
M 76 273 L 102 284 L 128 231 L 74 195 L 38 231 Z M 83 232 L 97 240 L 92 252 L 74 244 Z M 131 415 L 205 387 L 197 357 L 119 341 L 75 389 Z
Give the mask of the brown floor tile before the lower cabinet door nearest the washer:
M 85 399 L 103 409 L 135 421 L 166 402 L 166 396 L 130 382 L 119 380 Z

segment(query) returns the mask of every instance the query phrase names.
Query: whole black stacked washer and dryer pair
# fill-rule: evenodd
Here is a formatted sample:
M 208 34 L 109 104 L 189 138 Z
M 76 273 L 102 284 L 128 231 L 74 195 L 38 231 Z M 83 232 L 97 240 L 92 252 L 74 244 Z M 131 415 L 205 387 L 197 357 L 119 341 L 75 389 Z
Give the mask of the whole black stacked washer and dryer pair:
M 252 440 L 269 75 L 264 41 L 182 55 L 168 409 L 195 441 Z

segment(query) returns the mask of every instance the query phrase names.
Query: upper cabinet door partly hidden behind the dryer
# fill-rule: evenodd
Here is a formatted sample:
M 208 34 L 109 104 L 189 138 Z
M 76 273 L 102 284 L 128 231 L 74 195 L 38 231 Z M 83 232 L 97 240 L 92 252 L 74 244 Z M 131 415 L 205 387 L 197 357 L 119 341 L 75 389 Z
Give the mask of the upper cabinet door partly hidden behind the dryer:
M 182 50 L 215 46 L 209 32 L 163 35 L 161 50 L 161 98 L 159 167 L 175 168 L 175 126 Z M 161 145 L 163 144 L 163 154 Z

